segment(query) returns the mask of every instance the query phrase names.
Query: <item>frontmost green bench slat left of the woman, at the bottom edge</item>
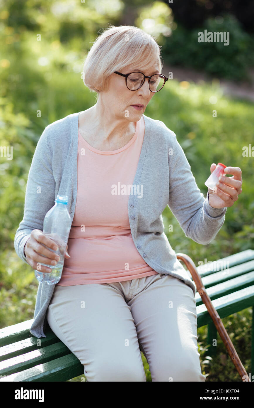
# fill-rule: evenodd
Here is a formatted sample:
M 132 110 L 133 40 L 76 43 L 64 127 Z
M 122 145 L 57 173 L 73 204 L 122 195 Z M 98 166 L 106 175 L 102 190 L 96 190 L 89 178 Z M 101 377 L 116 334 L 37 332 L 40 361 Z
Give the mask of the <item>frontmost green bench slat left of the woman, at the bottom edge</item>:
M 71 378 L 84 374 L 84 366 L 72 353 L 54 359 L 53 361 L 38 364 L 20 373 L 2 377 L 4 381 L 68 381 Z

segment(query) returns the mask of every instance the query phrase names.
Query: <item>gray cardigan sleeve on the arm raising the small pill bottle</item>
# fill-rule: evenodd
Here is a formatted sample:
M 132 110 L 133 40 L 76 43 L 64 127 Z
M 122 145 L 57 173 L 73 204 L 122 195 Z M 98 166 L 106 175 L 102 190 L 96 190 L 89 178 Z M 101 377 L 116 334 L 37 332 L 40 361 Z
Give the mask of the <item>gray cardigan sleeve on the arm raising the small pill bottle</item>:
M 204 198 L 175 133 L 170 147 L 168 206 L 186 237 L 199 244 L 209 244 L 223 225 L 227 207 L 213 208 L 208 194 Z

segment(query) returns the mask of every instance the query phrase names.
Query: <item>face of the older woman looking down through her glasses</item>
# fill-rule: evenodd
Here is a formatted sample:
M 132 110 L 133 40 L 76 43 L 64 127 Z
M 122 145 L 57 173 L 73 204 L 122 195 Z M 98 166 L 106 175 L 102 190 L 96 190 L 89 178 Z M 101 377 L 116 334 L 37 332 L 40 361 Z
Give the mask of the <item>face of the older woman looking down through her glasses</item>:
M 152 67 L 148 67 L 145 71 L 138 69 L 138 67 L 127 66 L 120 70 L 120 73 L 126 74 L 130 72 L 142 72 L 144 75 L 152 75 L 158 73 L 158 65 L 155 64 Z M 109 107 L 112 114 L 117 118 L 126 118 L 130 122 L 137 122 L 140 120 L 142 114 L 153 97 L 154 92 L 149 89 L 148 78 L 145 79 L 141 88 L 136 91 L 130 91 L 125 82 L 125 77 L 113 73 L 109 77 L 108 89 L 101 93 L 103 104 Z M 141 104 L 144 107 L 141 110 L 137 110 L 134 106 Z

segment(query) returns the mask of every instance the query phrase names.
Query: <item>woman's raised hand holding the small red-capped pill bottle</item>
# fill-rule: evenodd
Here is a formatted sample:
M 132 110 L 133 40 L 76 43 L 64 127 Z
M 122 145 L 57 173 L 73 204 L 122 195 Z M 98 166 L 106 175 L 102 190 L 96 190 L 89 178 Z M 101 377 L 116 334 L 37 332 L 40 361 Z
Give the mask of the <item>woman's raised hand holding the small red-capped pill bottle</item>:
M 212 173 L 216 168 L 216 164 L 212 163 L 210 172 Z M 226 171 L 228 169 L 228 172 Z M 224 173 L 233 174 L 232 177 L 222 177 L 217 184 L 216 189 L 208 188 L 209 204 L 214 208 L 231 207 L 238 195 L 242 192 L 242 171 L 239 167 L 226 167 Z

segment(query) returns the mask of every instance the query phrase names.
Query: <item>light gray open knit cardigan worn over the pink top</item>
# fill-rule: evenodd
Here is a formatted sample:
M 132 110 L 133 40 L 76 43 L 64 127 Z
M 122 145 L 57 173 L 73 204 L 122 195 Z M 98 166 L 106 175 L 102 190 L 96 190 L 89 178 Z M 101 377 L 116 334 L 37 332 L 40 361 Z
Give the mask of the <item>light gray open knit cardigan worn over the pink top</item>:
M 213 208 L 197 187 L 184 151 L 173 131 L 160 120 L 146 115 L 145 135 L 134 178 L 143 185 L 143 196 L 129 195 L 128 213 L 134 244 L 156 272 L 182 279 L 196 293 L 164 233 L 162 212 L 168 205 L 186 237 L 209 244 L 221 228 L 226 207 Z M 68 211 L 73 220 L 77 199 L 77 150 L 79 112 L 57 120 L 40 136 L 28 173 L 24 217 L 14 238 L 18 256 L 27 263 L 24 245 L 33 229 L 43 231 L 47 211 L 57 194 L 68 195 Z M 209 170 L 209 169 L 208 169 Z M 209 171 L 208 171 L 209 173 Z M 204 175 L 204 181 L 209 174 Z M 46 337 L 46 311 L 55 285 L 39 283 L 30 332 Z

